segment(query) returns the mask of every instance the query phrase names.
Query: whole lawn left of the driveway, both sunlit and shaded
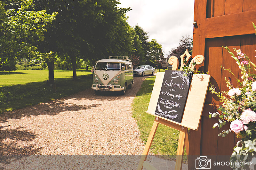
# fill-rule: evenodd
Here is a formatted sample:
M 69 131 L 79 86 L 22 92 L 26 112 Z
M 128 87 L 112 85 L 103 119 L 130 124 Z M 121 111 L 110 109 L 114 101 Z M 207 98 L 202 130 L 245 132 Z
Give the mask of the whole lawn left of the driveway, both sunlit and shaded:
M 91 71 L 54 70 L 56 92 L 47 84 L 48 70 L 0 72 L 0 113 L 58 99 L 90 88 Z

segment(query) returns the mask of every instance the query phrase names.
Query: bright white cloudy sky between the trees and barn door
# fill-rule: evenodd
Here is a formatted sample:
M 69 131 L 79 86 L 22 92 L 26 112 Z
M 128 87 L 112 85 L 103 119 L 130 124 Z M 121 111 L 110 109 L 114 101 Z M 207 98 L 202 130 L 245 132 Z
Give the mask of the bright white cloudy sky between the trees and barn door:
M 149 40 L 162 45 L 164 56 L 179 45 L 182 36 L 193 37 L 194 0 L 119 0 L 119 7 L 131 7 L 128 24 L 139 25 Z

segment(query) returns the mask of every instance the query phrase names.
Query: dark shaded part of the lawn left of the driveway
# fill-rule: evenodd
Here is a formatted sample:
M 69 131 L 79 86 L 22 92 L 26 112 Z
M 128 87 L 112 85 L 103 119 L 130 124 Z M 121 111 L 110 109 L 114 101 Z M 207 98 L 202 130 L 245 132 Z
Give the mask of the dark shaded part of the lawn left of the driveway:
M 56 92 L 46 81 L 2 86 L 0 87 L 0 113 L 65 97 L 91 86 L 90 75 L 78 76 L 78 78 L 76 81 L 73 78 L 56 78 Z

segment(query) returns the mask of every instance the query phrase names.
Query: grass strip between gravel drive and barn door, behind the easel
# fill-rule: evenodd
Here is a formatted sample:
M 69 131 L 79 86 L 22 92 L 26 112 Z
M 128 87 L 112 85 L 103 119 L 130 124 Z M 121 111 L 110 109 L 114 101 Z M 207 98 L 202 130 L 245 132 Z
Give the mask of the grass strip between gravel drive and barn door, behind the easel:
M 155 116 L 145 113 L 148 110 L 155 78 L 156 76 L 146 78 L 132 103 L 132 115 L 137 121 L 141 133 L 140 138 L 145 144 L 155 119 Z M 173 159 L 172 156 L 177 153 L 178 140 L 179 131 L 159 124 L 150 152 L 167 159 Z M 186 155 L 186 151 L 184 154 Z

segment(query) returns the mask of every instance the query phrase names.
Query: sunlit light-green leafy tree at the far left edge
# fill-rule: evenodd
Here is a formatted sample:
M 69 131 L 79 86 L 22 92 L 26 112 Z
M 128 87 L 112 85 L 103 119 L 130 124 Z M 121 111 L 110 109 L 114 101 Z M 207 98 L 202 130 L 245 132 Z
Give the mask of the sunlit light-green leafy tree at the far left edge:
M 32 0 L 7 2 L 0 1 L 0 70 L 10 71 L 15 70 L 16 60 L 37 55 L 34 43 L 44 40 L 45 27 L 57 13 L 30 11 Z

